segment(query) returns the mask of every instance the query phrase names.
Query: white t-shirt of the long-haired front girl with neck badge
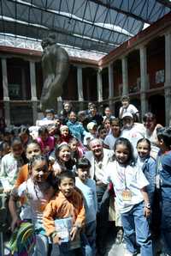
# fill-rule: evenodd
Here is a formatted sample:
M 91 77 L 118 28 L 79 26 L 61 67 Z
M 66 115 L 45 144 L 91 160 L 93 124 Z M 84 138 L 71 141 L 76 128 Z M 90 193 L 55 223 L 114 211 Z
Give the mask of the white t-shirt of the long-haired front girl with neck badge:
M 111 181 L 115 190 L 115 202 L 121 213 L 128 212 L 135 204 L 144 201 L 143 194 L 140 191 L 144 186 L 148 186 L 149 182 L 146 180 L 143 171 L 140 168 L 131 167 L 130 165 L 121 166 L 118 162 L 109 162 L 106 168 L 106 180 Z M 132 197 L 129 201 L 124 201 L 122 192 L 129 190 Z

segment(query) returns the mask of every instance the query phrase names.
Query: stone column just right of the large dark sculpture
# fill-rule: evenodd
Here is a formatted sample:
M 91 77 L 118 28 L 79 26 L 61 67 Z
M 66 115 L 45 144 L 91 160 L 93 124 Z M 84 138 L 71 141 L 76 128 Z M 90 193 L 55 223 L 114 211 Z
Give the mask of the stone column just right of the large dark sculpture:
M 78 91 L 78 100 L 79 100 L 79 108 L 83 110 L 83 77 L 82 77 L 82 68 L 77 67 L 77 91 Z

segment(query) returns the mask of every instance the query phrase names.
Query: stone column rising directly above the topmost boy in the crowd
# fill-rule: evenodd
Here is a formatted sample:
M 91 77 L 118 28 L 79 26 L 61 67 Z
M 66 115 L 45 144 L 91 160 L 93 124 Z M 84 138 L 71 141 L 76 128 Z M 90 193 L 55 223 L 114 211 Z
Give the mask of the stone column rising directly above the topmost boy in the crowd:
M 122 70 L 122 95 L 129 94 L 128 92 L 128 71 L 127 71 L 127 57 L 121 59 Z

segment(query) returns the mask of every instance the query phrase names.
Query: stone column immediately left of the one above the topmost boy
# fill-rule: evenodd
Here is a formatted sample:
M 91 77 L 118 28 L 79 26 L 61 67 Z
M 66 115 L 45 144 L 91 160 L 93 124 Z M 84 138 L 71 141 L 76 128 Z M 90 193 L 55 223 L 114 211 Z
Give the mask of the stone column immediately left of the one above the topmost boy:
M 114 65 L 109 64 L 108 66 L 108 76 L 109 76 L 109 108 L 115 111 L 114 105 Z

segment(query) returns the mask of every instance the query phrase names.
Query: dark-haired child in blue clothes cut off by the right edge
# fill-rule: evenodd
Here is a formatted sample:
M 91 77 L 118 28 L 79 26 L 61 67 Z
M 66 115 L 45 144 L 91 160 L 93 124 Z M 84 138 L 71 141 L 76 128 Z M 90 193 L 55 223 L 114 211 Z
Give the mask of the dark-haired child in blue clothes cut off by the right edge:
M 162 240 L 164 243 L 164 253 L 171 255 L 171 128 L 165 127 L 158 129 L 156 136 L 161 149 L 156 159 L 156 187 L 161 192 Z

